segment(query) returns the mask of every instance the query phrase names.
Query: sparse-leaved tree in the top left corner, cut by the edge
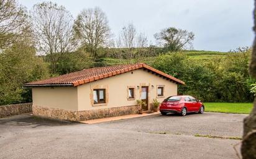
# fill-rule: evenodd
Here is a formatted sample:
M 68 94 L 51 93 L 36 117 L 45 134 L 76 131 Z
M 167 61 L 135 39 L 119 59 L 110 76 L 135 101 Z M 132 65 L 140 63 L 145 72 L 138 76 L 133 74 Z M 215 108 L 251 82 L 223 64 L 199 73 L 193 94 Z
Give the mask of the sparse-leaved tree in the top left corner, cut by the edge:
M 25 8 L 15 0 L 0 0 L 0 49 L 16 41 L 26 27 Z

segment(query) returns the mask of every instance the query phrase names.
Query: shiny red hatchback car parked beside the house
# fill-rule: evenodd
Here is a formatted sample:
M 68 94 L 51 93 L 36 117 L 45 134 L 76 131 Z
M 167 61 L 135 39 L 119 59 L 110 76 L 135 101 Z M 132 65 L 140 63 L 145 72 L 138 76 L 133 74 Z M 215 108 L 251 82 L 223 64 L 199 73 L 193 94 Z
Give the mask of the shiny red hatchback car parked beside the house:
M 204 113 L 204 104 L 189 95 L 176 95 L 166 98 L 159 108 L 161 114 L 180 113 L 185 116 L 187 113 Z

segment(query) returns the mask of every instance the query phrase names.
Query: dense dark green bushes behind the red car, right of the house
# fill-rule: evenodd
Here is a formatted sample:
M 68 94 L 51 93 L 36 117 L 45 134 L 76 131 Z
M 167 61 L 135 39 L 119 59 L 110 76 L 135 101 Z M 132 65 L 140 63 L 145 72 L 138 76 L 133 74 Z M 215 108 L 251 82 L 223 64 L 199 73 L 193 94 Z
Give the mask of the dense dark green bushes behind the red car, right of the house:
M 183 80 L 178 92 L 204 101 L 253 101 L 248 74 L 249 53 L 228 53 L 211 62 L 190 59 L 184 53 L 158 56 L 153 67 Z

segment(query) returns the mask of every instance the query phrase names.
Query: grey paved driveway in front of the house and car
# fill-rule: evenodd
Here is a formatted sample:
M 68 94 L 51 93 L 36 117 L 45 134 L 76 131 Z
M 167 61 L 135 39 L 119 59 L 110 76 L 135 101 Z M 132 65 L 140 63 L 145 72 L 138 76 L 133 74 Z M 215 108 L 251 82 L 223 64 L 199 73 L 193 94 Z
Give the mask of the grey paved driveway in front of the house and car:
M 0 158 L 236 158 L 242 114 L 154 115 L 99 124 L 0 119 Z

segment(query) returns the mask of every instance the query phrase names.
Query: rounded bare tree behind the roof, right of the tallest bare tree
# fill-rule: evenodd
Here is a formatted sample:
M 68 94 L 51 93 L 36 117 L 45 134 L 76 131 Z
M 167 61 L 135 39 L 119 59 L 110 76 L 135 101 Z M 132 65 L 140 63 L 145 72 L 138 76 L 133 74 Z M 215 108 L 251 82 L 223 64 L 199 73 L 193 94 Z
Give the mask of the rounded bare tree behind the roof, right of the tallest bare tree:
M 75 20 L 74 29 L 81 45 L 86 46 L 93 58 L 98 56 L 99 47 L 107 45 L 111 35 L 106 14 L 99 7 L 81 11 Z

